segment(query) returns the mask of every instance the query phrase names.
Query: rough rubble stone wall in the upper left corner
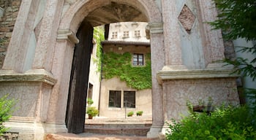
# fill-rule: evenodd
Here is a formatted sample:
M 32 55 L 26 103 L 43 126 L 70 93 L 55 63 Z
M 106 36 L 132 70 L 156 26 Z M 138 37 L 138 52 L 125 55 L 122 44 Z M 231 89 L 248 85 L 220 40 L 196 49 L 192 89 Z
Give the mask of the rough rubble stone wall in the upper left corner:
M 21 0 L 0 1 L 0 7 L 3 12 L 2 17 L 0 17 L 0 68 L 4 63 L 20 3 Z

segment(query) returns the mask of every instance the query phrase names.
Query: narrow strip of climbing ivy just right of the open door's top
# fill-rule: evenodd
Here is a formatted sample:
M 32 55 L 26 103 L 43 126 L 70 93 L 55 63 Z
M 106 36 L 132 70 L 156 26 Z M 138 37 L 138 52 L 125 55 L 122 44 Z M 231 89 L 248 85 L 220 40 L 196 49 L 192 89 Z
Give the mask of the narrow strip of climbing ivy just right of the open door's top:
M 94 59 L 94 61 L 97 62 L 98 71 L 101 71 L 101 69 L 102 69 L 102 44 L 101 44 L 101 42 L 105 40 L 103 26 L 94 27 L 94 39 L 96 40 L 96 44 L 97 44 L 97 52 L 96 52 L 97 59 Z

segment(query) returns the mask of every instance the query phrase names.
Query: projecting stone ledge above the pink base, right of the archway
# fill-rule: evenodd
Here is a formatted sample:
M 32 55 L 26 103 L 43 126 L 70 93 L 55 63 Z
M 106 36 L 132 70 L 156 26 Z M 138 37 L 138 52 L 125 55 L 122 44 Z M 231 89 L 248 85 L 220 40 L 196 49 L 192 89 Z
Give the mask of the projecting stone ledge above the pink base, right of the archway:
M 208 79 L 238 77 L 238 74 L 232 74 L 233 66 L 225 66 L 225 63 L 210 63 L 206 69 L 187 69 L 184 65 L 164 66 L 157 73 L 157 80 L 162 84 L 165 80 L 173 79 Z

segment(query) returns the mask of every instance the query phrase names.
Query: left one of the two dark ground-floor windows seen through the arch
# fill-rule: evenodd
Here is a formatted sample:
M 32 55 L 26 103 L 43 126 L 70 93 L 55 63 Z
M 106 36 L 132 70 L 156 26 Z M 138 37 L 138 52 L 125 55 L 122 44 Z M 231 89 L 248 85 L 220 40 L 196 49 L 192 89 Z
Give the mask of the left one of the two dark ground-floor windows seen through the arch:
M 109 91 L 109 107 L 121 107 L 121 91 L 120 90 L 110 90 Z

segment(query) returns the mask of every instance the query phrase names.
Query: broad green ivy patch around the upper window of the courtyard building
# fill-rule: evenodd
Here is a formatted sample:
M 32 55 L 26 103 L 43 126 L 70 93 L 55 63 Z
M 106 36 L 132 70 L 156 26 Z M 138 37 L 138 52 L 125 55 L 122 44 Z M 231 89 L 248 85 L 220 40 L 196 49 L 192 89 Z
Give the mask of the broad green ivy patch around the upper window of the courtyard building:
M 103 55 L 102 72 L 106 79 L 119 77 L 127 85 L 137 90 L 151 88 L 150 54 L 146 54 L 146 66 L 132 66 L 132 55 L 129 52 L 118 54 L 108 52 Z

